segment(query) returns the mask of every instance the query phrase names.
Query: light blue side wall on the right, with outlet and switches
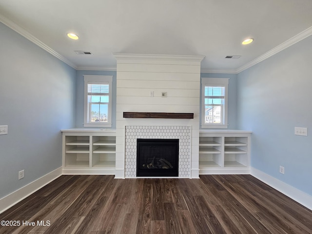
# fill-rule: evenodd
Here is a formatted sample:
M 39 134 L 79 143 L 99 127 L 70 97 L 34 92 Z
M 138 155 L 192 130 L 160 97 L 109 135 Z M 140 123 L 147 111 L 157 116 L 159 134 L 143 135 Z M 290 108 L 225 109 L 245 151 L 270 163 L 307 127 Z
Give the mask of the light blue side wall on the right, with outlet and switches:
M 252 167 L 312 195 L 312 36 L 237 75 L 237 127 Z M 308 137 L 294 127 L 307 127 Z M 279 166 L 285 167 L 285 175 Z

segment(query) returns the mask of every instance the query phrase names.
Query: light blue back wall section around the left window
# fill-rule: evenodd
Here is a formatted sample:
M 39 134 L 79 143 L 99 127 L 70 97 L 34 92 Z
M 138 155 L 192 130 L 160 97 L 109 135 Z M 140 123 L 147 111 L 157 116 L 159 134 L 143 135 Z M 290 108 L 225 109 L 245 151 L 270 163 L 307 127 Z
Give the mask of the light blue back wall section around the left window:
M 117 79 L 116 71 L 77 71 L 77 87 L 76 87 L 76 127 L 83 128 L 84 115 L 84 81 L 83 75 L 103 75 L 113 76 L 112 87 L 112 128 L 116 128 L 116 89 Z

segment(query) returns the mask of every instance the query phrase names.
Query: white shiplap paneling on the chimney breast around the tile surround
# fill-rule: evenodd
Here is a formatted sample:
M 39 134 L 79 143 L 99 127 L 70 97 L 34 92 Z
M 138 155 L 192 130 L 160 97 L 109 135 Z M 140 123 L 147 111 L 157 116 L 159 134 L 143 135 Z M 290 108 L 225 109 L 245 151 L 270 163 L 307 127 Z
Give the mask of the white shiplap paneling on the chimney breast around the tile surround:
M 188 155 L 190 174 L 198 177 L 199 98 L 201 56 L 159 56 L 117 54 L 117 146 L 116 177 L 125 176 L 126 125 L 189 126 L 192 147 Z M 154 97 L 150 97 L 150 92 Z M 161 97 L 167 92 L 167 98 Z M 123 112 L 194 113 L 194 119 L 131 119 Z M 195 130 L 195 131 L 193 131 Z M 195 160 L 194 160 L 195 159 Z M 192 165 L 192 166 L 191 166 Z M 179 174 L 180 176 L 180 174 Z

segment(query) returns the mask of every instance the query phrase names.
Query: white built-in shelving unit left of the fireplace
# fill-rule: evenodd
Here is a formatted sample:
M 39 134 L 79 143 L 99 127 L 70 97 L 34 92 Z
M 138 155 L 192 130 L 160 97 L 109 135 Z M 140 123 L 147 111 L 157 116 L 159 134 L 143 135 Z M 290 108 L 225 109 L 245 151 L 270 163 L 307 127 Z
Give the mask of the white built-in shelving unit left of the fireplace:
M 115 130 L 65 129 L 62 135 L 63 174 L 115 175 Z

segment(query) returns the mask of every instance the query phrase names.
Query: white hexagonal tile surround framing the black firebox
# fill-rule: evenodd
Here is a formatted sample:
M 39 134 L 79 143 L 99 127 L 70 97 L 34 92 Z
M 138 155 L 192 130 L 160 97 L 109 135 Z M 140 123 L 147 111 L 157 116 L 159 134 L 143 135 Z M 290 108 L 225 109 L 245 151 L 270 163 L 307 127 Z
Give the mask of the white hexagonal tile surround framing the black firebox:
M 137 176 L 137 138 L 179 139 L 178 177 L 191 177 L 191 126 L 125 126 L 125 177 Z

